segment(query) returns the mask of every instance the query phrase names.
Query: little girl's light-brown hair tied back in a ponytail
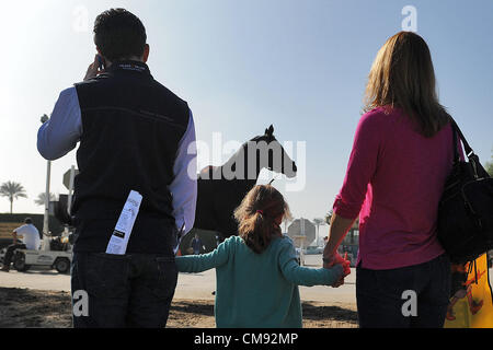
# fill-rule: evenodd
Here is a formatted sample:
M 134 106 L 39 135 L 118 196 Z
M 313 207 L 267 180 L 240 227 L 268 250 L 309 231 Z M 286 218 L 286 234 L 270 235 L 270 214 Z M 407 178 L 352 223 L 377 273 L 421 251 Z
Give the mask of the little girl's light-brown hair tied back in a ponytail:
M 257 185 L 243 198 L 234 210 L 238 232 L 245 244 L 256 254 L 264 252 L 271 241 L 282 234 L 275 219 L 291 217 L 283 195 L 271 185 Z

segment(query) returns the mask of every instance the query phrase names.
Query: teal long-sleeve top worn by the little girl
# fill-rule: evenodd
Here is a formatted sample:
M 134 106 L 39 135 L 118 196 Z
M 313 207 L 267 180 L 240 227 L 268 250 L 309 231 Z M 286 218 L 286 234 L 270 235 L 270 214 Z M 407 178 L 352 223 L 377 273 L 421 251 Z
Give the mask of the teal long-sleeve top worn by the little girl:
M 293 241 L 277 237 L 262 254 L 231 236 L 214 252 L 176 257 L 181 272 L 216 268 L 216 325 L 219 328 L 300 328 L 298 285 L 332 285 L 342 276 L 332 269 L 300 267 Z

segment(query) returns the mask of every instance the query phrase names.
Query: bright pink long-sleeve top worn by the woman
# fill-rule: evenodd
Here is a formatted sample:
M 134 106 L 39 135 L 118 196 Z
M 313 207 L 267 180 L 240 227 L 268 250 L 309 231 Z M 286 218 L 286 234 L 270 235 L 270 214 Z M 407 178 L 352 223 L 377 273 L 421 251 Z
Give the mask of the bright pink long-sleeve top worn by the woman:
M 445 253 L 436 224 L 452 153 L 450 125 L 425 138 L 399 108 L 362 117 L 333 209 L 346 219 L 359 214 L 363 268 L 412 266 Z

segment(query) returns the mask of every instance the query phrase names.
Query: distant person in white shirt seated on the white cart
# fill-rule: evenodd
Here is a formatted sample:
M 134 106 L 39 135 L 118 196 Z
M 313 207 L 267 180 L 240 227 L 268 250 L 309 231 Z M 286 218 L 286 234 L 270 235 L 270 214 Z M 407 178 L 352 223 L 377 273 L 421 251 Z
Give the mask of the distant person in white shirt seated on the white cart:
M 25 218 L 24 225 L 12 231 L 13 244 L 7 247 L 7 253 L 3 258 L 3 267 L 1 271 L 9 272 L 10 264 L 12 262 L 13 253 L 15 249 L 38 250 L 41 245 L 39 231 L 33 225 L 31 218 Z M 19 237 L 22 237 L 22 243 Z

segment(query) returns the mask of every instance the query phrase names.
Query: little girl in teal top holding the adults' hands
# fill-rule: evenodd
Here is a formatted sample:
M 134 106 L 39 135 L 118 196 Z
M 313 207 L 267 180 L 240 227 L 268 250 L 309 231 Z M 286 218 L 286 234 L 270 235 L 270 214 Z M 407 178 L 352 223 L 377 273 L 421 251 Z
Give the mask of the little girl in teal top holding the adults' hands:
M 336 285 L 343 266 L 300 267 L 293 241 L 280 232 L 290 217 L 283 195 L 273 186 L 255 186 L 234 211 L 239 235 L 216 250 L 176 257 L 181 272 L 216 268 L 216 325 L 219 328 L 300 328 L 298 285 Z

